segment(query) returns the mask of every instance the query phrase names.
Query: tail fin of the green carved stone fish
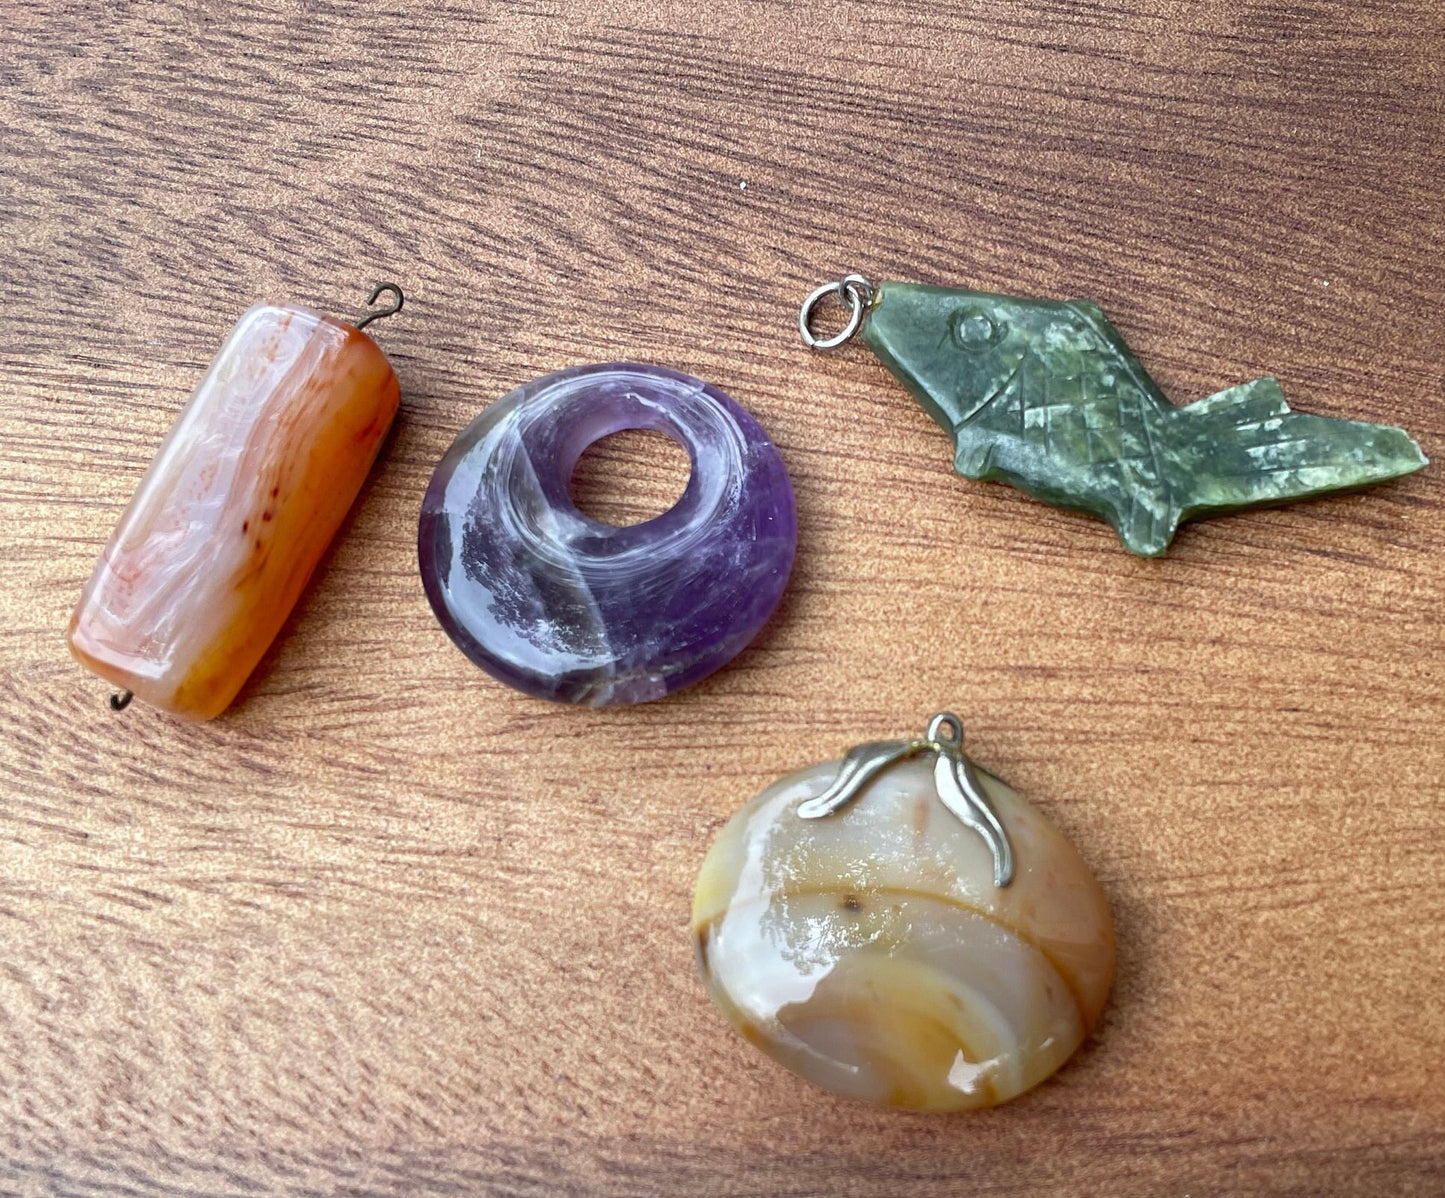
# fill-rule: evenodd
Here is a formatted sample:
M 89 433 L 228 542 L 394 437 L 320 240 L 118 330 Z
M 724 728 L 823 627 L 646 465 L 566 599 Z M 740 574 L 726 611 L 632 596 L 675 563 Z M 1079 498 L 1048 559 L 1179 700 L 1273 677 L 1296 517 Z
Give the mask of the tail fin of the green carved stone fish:
M 1179 416 L 1194 458 L 1183 519 L 1348 491 L 1428 462 L 1405 429 L 1292 412 L 1267 377 L 1181 408 Z

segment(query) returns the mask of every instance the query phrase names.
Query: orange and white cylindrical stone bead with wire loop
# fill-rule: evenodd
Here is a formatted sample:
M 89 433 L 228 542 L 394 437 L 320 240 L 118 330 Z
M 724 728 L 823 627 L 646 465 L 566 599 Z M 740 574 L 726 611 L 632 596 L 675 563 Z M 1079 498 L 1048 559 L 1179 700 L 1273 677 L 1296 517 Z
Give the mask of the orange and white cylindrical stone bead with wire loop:
M 143 702 L 210 720 L 280 632 L 400 402 L 361 325 L 257 303 L 197 386 L 71 617 L 71 652 Z

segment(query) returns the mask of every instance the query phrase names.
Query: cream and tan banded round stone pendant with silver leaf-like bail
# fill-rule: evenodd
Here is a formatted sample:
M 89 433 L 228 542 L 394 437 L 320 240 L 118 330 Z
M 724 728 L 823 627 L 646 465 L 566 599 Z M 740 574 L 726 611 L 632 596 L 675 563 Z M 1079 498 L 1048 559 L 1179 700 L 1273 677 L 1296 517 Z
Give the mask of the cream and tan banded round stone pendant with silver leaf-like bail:
M 1074 845 L 962 754 L 957 718 L 769 786 L 712 844 L 698 967 L 749 1040 L 835 1094 L 955 1111 L 1038 1085 L 1114 977 Z

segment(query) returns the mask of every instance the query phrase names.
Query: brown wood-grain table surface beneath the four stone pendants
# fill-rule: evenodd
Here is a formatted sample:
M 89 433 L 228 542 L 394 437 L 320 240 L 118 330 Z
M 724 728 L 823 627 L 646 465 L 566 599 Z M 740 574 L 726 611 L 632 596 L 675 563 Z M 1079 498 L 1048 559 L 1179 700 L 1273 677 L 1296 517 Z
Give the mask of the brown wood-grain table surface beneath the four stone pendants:
M 1274 373 L 1445 455 L 1431 0 L 0 6 L 0 1191 L 1445 1191 L 1441 467 L 1160 561 L 965 483 L 814 285 L 1090 296 L 1178 402 Z M 260 298 L 377 325 L 403 410 L 237 705 L 62 632 Z M 731 668 L 565 710 L 416 574 L 487 403 L 631 358 L 776 439 L 798 566 Z M 600 510 L 665 504 L 633 436 Z M 691 887 L 775 775 L 939 708 L 1107 889 L 1055 1080 L 853 1106 L 734 1036 Z

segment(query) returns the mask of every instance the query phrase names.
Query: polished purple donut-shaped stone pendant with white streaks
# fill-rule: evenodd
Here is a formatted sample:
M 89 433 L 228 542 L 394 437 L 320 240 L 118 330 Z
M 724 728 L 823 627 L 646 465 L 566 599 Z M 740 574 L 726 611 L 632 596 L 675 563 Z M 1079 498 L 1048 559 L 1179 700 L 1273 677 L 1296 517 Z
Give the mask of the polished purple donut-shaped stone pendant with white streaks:
M 655 429 L 692 461 L 682 499 L 630 527 L 571 500 L 578 458 Z M 717 387 L 656 366 L 548 374 L 481 413 L 441 460 L 418 538 L 442 627 L 487 673 L 546 699 L 659 699 L 737 656 L 798 545 L 788 468 Z

